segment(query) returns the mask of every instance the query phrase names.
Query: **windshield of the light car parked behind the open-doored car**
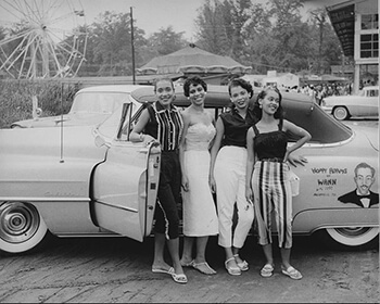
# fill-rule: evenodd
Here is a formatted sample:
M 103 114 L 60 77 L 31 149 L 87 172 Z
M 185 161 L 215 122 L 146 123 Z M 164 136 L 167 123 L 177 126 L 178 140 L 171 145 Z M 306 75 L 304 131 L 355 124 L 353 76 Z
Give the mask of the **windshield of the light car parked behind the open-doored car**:
M 126 92 L 80 92 L 75 97 L 69 113 L 111 114 L 127 99 Z

